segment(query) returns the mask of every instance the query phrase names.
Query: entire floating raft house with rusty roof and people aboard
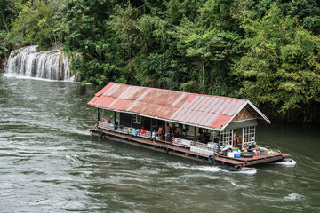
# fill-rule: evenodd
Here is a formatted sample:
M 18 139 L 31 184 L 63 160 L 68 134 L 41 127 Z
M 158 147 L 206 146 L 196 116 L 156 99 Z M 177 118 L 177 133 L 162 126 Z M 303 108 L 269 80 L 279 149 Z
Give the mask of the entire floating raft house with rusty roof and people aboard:
M 256 126 L 270 121 L 247 99 L 108 83 L 88 104 L 100 138 L 236 169 L 290 156 L 257 145 Z

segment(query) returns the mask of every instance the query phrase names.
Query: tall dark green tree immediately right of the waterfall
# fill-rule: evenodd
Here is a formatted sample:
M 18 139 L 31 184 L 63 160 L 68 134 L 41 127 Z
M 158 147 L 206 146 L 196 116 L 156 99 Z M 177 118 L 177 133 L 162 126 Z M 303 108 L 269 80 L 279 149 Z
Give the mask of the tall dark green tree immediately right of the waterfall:
M 105 85 L 110 81 L 126 83 L 120 39 L 108 25 L 112 0 L 66 0 L 62 8 L 65 24 L 64 50 L 72 68 L 84 83 Z

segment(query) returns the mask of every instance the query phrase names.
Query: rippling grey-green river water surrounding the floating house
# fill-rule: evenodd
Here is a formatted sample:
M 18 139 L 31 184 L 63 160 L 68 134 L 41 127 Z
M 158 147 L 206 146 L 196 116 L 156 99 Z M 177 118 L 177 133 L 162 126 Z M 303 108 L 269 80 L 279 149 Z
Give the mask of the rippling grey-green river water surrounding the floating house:
M 259 126 L 295 162 L 238 172 L 92 137 L 94 93 L 0 73 L 0 212 L 320 212 L 319 126 Z

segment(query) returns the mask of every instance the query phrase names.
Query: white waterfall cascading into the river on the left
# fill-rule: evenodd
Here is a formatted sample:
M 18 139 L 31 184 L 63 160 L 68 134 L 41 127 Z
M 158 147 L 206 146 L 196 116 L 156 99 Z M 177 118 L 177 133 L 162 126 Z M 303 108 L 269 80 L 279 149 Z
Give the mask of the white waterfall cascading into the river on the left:
M 58 81 L 75 82 L 77 77 L 68 68 L 68 59 L 60 50 L 38 51 L 28 46 L 12 51 L 6 73 Z

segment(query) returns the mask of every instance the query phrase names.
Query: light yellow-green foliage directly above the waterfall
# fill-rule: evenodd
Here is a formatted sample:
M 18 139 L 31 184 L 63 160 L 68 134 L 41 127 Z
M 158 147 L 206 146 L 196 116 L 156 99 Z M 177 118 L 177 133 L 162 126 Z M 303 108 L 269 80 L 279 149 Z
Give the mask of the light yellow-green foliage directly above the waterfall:
M 9 14 L 4 18 L 3 26 L 7 29 L 4 43 L 14 45 L 38 44 L 41 49 L 58 44 L 57 37 L 59 20 L 54 20 L 54 15 L 60 12 L 63 0 L 44 1 L 2 0 L 4 4 L 2 14 Z M 1 25 L 0 25 L 1 26 Z M 3 27 L 2 27 L 3 28 Z

